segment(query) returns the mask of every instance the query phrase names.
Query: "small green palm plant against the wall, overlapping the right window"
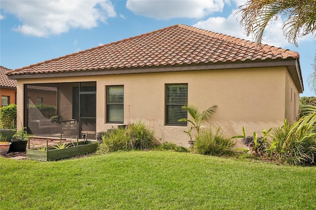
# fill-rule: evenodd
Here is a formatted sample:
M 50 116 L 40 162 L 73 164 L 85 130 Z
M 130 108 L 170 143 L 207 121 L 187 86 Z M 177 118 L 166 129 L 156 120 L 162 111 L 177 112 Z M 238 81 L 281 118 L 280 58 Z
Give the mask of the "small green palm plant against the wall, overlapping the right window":
M 190 118 L 182 118 L 178 120 L 186 121 L 192 124 L 192 126 L 189 128 L 188 131 L 185 131 L 185 133 L 188 134 L 190 137 L 190 141 L 193 141 L 193 134 L 192 132 L 195 131 L 196 135 L 199 135 L 201 132 L 201 129 L 203 128 L 202 123 L 209 122 L 209 120 L 213 117 L 213 114 L 215 113 L 217 109 L 217 105 L 213 105 L 209 107 L 208 109 L 200 112 L 196 105 L 184 105 L 182 106 L 185 110 L 188 111 Z

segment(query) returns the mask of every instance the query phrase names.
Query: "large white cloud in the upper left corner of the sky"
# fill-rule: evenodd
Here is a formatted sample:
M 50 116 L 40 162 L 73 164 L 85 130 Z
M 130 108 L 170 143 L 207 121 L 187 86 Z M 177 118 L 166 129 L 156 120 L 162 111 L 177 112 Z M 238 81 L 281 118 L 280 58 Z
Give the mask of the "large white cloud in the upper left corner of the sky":
M 109 0 L 11 0 L 1 1 L 1 9 L 22 22 L 15 31 L 33 36 L 59 35 L 71 28 L 91 29 L 116 16 Z

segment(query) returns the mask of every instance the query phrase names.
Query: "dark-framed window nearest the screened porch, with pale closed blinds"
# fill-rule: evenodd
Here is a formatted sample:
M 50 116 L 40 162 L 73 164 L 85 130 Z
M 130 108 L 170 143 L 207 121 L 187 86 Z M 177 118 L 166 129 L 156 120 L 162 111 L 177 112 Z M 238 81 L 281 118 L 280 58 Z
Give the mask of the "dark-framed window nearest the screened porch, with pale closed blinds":
M 107 86 L 107 123 L 124 122 L 124 86 Z

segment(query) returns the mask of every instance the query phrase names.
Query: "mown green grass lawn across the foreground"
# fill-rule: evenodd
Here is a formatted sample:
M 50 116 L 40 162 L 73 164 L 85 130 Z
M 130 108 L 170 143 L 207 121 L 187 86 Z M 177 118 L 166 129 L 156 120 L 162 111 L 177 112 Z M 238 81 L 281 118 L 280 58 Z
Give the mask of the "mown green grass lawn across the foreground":
M 170 151 L 54 162 L 0 158 L 11 209 L 316 209 L 316 167 Z

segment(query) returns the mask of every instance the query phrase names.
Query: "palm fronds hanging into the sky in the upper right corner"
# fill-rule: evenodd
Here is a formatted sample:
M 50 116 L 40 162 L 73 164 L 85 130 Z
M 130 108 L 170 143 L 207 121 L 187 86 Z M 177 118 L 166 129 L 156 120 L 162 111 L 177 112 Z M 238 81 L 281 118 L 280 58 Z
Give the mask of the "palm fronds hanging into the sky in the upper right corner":
M 264 30 L 277 18 L 284 19 L 283 32 L 297 46 L 297 37 L 316 31 L 316 0 L 248 0 L 239 7 L 246 34 L 261 43 Z

